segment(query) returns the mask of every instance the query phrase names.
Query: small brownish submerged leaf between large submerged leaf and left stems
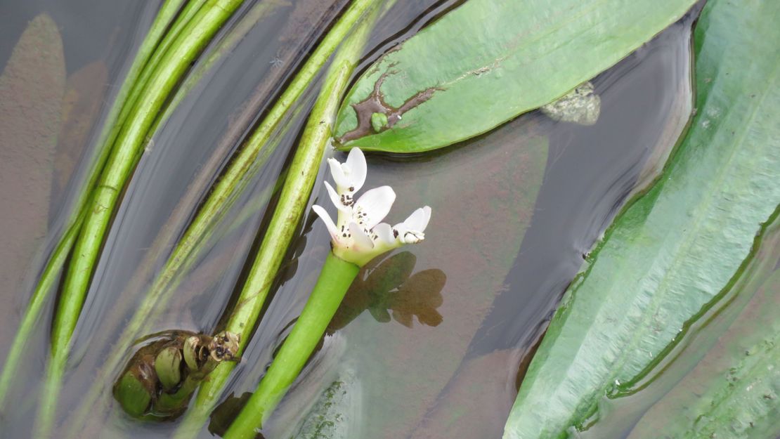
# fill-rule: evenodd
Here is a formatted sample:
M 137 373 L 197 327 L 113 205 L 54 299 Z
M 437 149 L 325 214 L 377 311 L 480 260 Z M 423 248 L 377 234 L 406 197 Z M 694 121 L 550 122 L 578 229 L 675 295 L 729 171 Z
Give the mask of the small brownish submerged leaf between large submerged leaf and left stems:
M 63 195 L 73 175 L 101 108 L 108 69 L 102 61 L 90 62 L 69 76 L 62 97 L 62 126 L 59 130 L 54 161 L 52 200 Z

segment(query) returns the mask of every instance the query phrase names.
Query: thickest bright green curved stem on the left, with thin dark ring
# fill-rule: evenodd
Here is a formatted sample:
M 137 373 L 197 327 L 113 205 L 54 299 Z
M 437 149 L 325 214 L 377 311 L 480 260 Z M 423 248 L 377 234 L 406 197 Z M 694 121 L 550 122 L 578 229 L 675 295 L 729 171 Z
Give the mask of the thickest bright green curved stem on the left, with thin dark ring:
M 190 62 L 200 53 L 225 20 L 242 0 L 210 0 L 197 11 L 180 38 L 172 43 L 154 69 L 144 99 L 139 100 L 127 115 L 115 147 L 95 187 L 83 228 L 76 239 L 74 253 L 66 273 L 51 336 L 51 362 L 47 384 L 41 398 L 38 437 L 48 437 L 54 417 L 58 389 L 66 366 L 69 343 L 76 327 L 90 278 L 103 243 L 108 222 L 112 218 L 120 191 L 140 159 L 147 131 Z

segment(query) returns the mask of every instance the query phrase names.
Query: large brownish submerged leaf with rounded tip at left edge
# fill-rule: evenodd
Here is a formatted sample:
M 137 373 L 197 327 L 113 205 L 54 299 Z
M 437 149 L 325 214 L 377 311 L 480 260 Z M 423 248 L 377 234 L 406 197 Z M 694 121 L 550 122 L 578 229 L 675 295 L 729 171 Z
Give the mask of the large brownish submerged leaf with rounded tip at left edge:
M 0 76 L 0 299 L 4 310 L 12 310 L 9 300 L 21 294 L 24 273 L 46 234 L 65 77 L 57 24 L 41 14 L 27 25 Z M 0 342 L 10 342 L 18 320 L 0 320 Z M 4 357 L 0 354 L 0 359 Z

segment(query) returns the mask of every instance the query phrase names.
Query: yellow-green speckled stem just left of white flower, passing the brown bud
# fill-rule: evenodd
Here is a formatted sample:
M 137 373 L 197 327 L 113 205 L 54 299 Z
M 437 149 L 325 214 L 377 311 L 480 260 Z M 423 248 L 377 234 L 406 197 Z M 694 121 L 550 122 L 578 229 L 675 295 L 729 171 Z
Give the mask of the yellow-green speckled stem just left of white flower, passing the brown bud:
M 300 147 L 289 168 L 289 178 L 285 181 L 277 204 L 278 207 L 271 218 L 261 248 L 239 295 L 238 305 L 233 310 L 225 327 L 225 331 L 231 331 L 241 336 L 239 354 L 243 352 L 243 348 L 250 338 L 265 298 L 271 289 L 271 284 L 282 264 L 282 258 L 307 207 L 325 146 L 332 136 L 332 125 L 335 121 L 336 111 L 349 83 L 349 77 L 359 61 L 371 25 L 377 16 L 376 8 L 371 13 L 371 19 L 363 19 L 360 26 L 355 28 L 346 41 L 345 37 L 349 34 L 349 30 L 359 22 L 360 17 L 366 13 L 367 9 L 379 3 L 381 2 L 378 0 L 356 0 L 353 2 L 312 55 L 312 58 L 321 60 L 317 66 L 319 69 L 335 47 L 343 41 L 342 48 L 335 56 L 325 78 L 324 86 L 314 104 L 307 126 L 303 130 Z M 309 62 L 304 65 L 302 73 L 309 71 Z M 310 76 L 310 79 L 313 76 Z M 284 101 L 285 96 L 282 95 L 279 102 Z M 200 430 L 207 420 L 208 413 L 211 412 L 219 396 L 222 395 L 222 388 L 233 367 L 232 363 L 221 363 L 209 375 L 209 379 L 200 385 L 195 403 L 186 413 L 175 437 L 191 437 L 197 430 Z

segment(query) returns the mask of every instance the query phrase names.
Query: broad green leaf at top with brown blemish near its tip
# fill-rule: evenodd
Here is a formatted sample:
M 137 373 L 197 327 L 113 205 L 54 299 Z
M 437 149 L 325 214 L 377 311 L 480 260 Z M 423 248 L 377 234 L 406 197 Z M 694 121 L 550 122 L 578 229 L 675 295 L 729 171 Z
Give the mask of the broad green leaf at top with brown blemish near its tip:
M 399 153 L 477 136 L 608 69 L 693 3 L 470 0 L 360 77 L 336 136 L 344 149 Z

